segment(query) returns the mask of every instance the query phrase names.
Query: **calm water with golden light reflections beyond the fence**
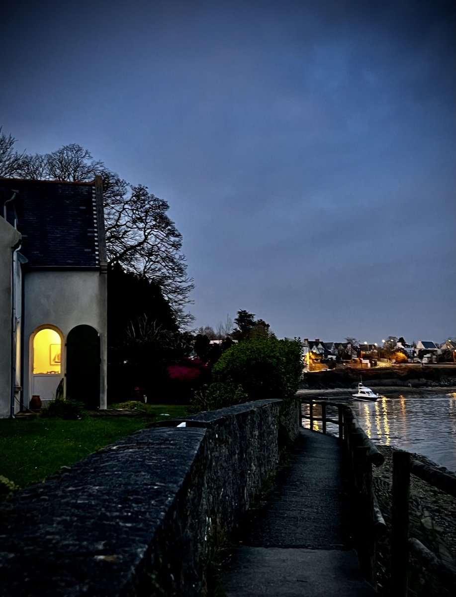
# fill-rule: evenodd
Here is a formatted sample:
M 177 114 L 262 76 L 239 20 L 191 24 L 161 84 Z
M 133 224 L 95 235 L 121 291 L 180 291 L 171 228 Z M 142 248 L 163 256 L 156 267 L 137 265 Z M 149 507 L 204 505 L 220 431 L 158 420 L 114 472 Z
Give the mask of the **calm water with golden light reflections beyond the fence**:
M 456 392 L 421 390 L 405 396 L 382 396 L 377 402 L 360 402 L 348 396 L 332 400 L 350 404 L 375 443 L 423 454 L 456 472 Z M 304 420 L 304 425 L 309 427 L 308 419 Z M 330 425 L 328 431 L 332 432 Z

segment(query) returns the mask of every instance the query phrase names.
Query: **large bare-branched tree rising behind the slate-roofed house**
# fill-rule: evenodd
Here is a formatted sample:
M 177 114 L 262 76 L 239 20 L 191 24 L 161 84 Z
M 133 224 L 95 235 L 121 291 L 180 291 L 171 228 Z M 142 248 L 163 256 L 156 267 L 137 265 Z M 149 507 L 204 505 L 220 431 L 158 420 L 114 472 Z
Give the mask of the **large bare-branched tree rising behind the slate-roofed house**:
M 177 321 L 187 325 L 193 318 L 183 307 L 190 302 L 193 280 L 187 276 L 182 235 L 167 215 L 167 202 L 143 184 L 127 183 L 76 143 L 32 156 L 14 152 L 15 141 L 11 135 L 0 137 L 0 176 L 68 181 L 102 177 L 108 260 L 159 284 Z

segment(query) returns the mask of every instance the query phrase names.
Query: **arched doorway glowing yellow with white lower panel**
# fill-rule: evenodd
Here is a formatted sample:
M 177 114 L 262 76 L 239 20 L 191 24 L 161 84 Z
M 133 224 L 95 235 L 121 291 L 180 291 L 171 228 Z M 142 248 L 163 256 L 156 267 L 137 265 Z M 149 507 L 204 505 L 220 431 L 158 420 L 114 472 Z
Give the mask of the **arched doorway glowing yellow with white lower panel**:
M 61 335 L 56 328 L 45 327 L 33 336 L 32 392 L 41 401 L 55 400 L 61 380 Z M 31 398 L 30 396 L 30 398 Z

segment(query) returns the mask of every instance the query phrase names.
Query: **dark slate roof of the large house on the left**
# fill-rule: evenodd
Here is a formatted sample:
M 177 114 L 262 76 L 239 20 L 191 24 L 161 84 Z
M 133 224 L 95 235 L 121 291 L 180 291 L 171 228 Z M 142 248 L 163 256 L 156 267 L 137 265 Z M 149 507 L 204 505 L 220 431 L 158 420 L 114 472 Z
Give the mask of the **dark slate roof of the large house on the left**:
M 100 267 L 94 183 L 0 179 L 19 191 L 21 253 L 31 268 Z

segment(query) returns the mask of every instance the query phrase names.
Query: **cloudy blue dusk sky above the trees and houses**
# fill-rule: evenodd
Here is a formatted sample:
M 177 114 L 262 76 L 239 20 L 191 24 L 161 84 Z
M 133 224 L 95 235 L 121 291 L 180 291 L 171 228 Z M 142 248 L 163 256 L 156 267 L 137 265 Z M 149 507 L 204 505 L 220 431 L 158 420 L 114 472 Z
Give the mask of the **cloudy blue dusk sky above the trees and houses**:
M 455 317 L 455 4 L 9 2 L 0 125 L 170 204 L 195 327 L 443 341 Z

